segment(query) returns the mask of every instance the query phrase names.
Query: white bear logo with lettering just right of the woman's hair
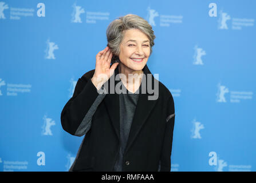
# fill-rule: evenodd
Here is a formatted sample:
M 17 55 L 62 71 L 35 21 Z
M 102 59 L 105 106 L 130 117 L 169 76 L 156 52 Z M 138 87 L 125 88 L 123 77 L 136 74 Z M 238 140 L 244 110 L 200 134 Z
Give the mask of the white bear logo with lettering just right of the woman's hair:
M 151 9 L 150 6 L 147 8 L 147 21 L 151 26 L 157 26 L 156 17 L 160 18 L 160 26 L 170 27 L 171 23 L 182 23 L 182 15 L 169 15 L 169 14 L 159 14 L 156 10 Z

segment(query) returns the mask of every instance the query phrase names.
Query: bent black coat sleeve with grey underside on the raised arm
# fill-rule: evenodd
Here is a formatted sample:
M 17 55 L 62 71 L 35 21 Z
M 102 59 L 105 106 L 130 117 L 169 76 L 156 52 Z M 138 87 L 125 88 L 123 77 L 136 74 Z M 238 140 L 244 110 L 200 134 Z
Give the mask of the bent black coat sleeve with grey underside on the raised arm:
M 62 109 L 62 128 L 74 136 L 83 136 L 90 129 L 92 116 L 104 97 L 91 79 L 79 78 L 72 98 Z

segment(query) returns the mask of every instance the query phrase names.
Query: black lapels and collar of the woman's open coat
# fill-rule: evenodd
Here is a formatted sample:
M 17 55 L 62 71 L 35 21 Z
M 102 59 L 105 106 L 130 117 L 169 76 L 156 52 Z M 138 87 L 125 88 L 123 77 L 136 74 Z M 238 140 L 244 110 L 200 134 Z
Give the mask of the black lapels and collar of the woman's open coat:
M 114 77 L 114 79 L 115 79 L 116 75 L 118 74 L 118 69 L 119 68 L 117 66 L 115 69 L 115 73 L 111 76 L 111 77 Z M 145 77 L 143 79 L 147 79 L 146 83 L 148 83 L 148 81 L 152 79 L 151 82 L 153 85 L 154 78 L 153 78 L 153 75 L 151 74 L 151 71 L 149 71 L 147 65 L 144 66 L 143 72 L 145 74 Z M 149 75 L 151 75 L 151 78 L 149 77 Z M 108 86 L 111 86 L 110 80 L 111 79 L 108 80 Z M 115 81 L 115 86 L 119 82 L 121 82 L 121 81 Z M 109 89 L 108 89 L 108 91 L 109 91 L 109 93 L 105 96 L 104 104 L 107 107 L 108 114 L 111 118 L 113 128 L 115 129 L 115 133 L 120 142 L 119 94 L 117 94 L 116 92 L 114 94 L 111 94 Z M 137 106 L 136 106 L 135 113 L 133 116 L 132 126 L 131 126 L 131 130 L 129 132 L 127 146 L 125 148 L 124 154 L 127 153 L 127 151 L 129 150 L 129 148 L 132 145 L 133 141 L 135 140 L 137 134 L 139 134 L 140 129 L 142 128 L 143 124 L 145 123 L 149 114 L 151 113 L 151 110 L 156 105 L 157 100 L 148 100 L 148 96 L 151 96 L 151 95 L 153 95 L 153 94 L 149 94 L 147 87 L 146 87 L 146 92 L 144 92 L 144 94 L 141 92 L 139 93 L 139 99 L 137 101 Z

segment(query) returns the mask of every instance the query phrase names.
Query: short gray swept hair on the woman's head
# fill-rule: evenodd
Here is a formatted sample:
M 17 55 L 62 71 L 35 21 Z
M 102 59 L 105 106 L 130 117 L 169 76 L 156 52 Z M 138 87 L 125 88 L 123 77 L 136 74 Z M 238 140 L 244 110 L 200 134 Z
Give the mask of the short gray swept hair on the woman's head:
M 111 63 L 119 61 L 119 46 L 121 41 L 123 40 L 123 31 L 129 29 L 139 29 L 147 35 L 150 42 L 150 54 L 152 53 L 152 46 L 155 45 L 154 39 L 156 38 L 154 31 L 152 30 L 152 26 L 144 18 L 141 18 L 138 15 L 134 14 L 128 14 L 124 17 L 119 17 L 118 19 L 115 19 L 108 25 L 106 34 L 108 41 L 107 46 L 113 54 Z

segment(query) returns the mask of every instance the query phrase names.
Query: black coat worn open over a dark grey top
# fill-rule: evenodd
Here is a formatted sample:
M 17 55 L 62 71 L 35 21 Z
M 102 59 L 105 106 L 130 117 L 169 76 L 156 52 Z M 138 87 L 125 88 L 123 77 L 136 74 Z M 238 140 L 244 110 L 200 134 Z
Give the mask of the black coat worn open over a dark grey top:
M 118 66 L 112 77 L 117 74 Z M 147 81 L 157 81 L 145 65 Z M 78 79 L 73 97 L 61 112 L 62 128 L 76 135 L 99 93 L 93 85 L 94 70 Z M 148 77 L 151 74 L 152 80 Z M 107 82 L 109 82 L 108 79 Z M 115 81 L 115 85 L 117 82 Z M 157 81 L 158 82 L 158 81 Z M 123 171 L 170 171 L 174 130 L 174 100 L 161 82 L 157 100 L 148 100 L 148 90 L 139 94 L 131 130 L 124 151 Z M 153 85 L 154 86 L 154 85 Z M 89 131 L 78 150 L 73 171 L 113 171 L 120 149 L 119 94 L 107 94 L 93 114 Z

